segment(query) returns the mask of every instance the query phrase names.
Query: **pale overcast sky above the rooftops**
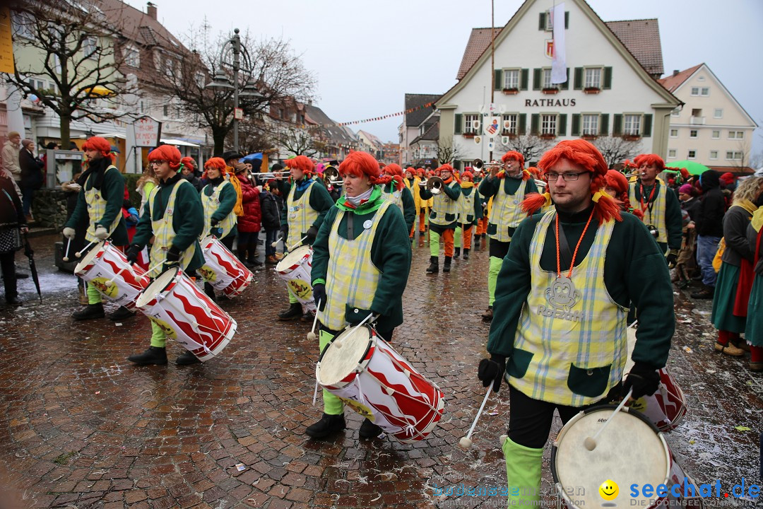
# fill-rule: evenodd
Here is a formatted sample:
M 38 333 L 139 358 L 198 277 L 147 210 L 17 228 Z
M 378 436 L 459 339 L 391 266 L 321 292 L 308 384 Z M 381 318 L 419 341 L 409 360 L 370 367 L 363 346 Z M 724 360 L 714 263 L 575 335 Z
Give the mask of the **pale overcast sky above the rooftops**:
M 551 7 L 553 0 L 539 0 Z M 143 0 L 127 3 L 146 10 Z M 288 0 L 188 2 L 153 0 L 175 35 L 207 18 L 212 33 L 249 29 L 283 37 L 318 81 L 317 105 L 334 121 L 355 121 L 401 111 L 404 94 L 446 92 L 472 27 L 490 27 L 489 0 Z M 521 0 L 495 1 L 502 27 Z M 557 0 L 556 3 L 559 3 Z M 665 73 L 707 63 L 743 108 L 763 125 L 761 0 L 589 0 L 604 21 L 658 18 Z M 571 37 L 571 35 L 568 35 Z M 758 55 L 758 56 L 755 56 Z M 353 125 L 383 141 L 398 141 L 401 117 Z M 763 149 L 755 131 L 755 152 Z

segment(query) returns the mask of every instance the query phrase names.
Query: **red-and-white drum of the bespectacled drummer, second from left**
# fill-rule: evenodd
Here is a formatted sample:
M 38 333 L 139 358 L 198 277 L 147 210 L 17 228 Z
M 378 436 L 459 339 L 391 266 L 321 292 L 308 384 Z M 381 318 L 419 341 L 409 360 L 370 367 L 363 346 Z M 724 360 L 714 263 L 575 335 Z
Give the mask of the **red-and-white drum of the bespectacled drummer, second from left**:
M 220 355 L 238 325 L 178 267 L 159 274 L 136 302 L 153 323 L 201 361 Z

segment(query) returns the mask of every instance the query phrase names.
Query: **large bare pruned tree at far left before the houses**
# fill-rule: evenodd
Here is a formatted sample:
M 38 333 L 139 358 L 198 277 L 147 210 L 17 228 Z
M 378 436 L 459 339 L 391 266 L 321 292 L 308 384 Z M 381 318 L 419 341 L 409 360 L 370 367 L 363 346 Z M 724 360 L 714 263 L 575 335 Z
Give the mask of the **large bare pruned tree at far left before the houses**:
M 23 2 L 14 8 L 14 50 L 34 57 L 17 59 L 14 73 L 3 76 L 58 115 L 63 147 L 69 147 L 72 121 L 104 122 L 126 114 L 117 109 L 127 92 L 118 71 L 121 52 L 114 49 L 118 21 L 107 19 L 93 0 Z

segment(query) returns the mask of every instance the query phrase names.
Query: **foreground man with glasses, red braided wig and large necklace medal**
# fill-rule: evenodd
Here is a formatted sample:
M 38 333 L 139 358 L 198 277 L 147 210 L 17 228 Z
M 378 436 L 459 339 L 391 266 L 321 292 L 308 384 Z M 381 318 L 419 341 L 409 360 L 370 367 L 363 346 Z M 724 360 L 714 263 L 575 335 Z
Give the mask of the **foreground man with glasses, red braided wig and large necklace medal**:
M 519 488 L 510 490 L 510 506 L 539 504 L 554 410 L 566 423 L 620 385 L 629 303 L 639 308 L 639 329 L 623 389 L 633 388 L 634 399 L 657 390 L 675 325 L 665 258 L 639 219 L 620 214 L 604 192 L 607 163 L 596 147 L 562 141 L 539 167 L 549 191 L 527 196 L 523 208 L 553 208 L 513 232 L 497 280 L 491 358 L 478 369 L 494 391 L 507 373 L 503 449 L 507 483 Z

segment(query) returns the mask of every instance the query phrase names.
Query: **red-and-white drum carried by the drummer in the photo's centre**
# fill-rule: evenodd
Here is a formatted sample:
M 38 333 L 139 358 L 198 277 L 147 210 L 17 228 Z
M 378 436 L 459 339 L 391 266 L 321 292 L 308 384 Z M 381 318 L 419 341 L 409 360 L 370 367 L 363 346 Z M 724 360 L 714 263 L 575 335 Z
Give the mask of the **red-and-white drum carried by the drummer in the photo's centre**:
M 370 326 L 347 327 L 321 354 L 318 383 L 403 443 L 423 440 L 443 417 L 443 391 Z

